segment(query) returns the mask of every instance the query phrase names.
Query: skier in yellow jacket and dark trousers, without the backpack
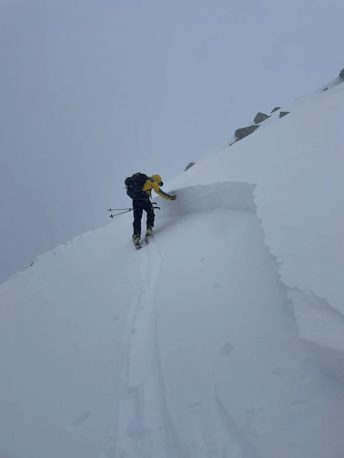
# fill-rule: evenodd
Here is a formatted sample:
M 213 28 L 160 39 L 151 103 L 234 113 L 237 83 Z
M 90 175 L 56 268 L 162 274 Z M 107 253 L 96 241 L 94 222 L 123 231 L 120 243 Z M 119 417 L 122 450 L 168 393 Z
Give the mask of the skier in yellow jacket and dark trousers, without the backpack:
M 176 196 L 171 196 L 166 192 L 162 191 L 160 187 L 164 183 L 161 180 L 160 175 L 153 175 L 148 177 L 148 180 L 145 181 L 142 191 L 143 195 L 140 198 L 133 198 L 133 213 L 134 213 L 134 221 L 133 221 L 133 242 L 137 248 L 140 246 L 140 235 L 141 235 L 141 219 L 143 210 L 147 213 L 147 231 L 145 235 L 145 239 L 149 240 L 150 236 L 152 235 L 152 229 L 154 227 L 154 208 L 152 203 L 150 202 L 150 198 L 152 196 L 152 189 L 158 194 L 159 196 L 163 197 L 167 200 L 176 200 Z

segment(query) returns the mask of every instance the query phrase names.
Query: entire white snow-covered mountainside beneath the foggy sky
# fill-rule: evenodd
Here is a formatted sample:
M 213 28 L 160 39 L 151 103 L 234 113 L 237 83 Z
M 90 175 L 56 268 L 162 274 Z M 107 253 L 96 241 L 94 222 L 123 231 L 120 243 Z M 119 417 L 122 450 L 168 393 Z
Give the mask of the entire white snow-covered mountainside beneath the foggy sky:
M 0 286 L 0 458 L 343 458 L 339 82 Z

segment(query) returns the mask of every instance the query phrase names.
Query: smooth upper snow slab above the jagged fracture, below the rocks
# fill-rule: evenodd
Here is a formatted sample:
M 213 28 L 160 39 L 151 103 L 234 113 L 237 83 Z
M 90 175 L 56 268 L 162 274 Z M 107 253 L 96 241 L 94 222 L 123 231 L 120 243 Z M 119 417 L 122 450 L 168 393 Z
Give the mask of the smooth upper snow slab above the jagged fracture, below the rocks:
M 253 135 L 228 148 L 232 137 L 211 157 L 166 183 L 177 190 L 177 196 L 178 189 L 194 186 L 196 190 L 200 183 L 216 186 L 216 182 L 226 182 L 230 187 L 233 181 L 237 189 L 245 183 L 254 186 L 254 204 L 266 245 L 277 258 L 283 283 L 292 289 L 289 296 L 300 337 L 322 345 L 326 342 L 336 351 L 344 351 L 344 339 L 338 333 L 333 334 L 338 337 L 336 342 L 333 336 L 323 338 L 321 326 L 310 332 L 303 311 L 324 314 L 327 323 L 331 316 L 334 328 L 338 312 L 344 314 L 343 81 L 338 76 L 316 93 L 283 107 L 289 114 L 282 119 L 274 111 Z M 230 200 L 229 205 L 233 206 Z M 329 327 L 327 333 L 330 337 Z

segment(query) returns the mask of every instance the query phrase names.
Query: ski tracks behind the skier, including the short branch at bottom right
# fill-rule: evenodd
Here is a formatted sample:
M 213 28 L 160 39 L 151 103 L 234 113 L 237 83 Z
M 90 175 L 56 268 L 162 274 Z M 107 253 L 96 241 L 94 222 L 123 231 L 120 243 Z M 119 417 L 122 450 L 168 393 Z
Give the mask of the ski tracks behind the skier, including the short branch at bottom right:
M 156 285 L 162 256 L 154 238 L 144 247 L 140 287 L 124 330 L 122 396 L 116 458 L 261 458 L 217 395 L 189 402 L 191 437 L 177 437 L 166 406 L 157 337 Z

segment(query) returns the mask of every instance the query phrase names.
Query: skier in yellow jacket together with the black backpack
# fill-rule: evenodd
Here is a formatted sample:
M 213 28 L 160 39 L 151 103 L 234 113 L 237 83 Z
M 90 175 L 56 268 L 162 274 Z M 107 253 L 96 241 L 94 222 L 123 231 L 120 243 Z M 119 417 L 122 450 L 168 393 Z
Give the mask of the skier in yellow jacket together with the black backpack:
M 163 185 L 160 175 L 147 176 L 141 173 L 133 174 L 125 180 L 127 194 L 133 199 L 133 242 L 136 248 L 141 248 L 141 218 L 143 210 L 147 213 L 147 231 L 144 240 L 148 242 L 152 235 L 154 227 L 154 208 L 150 202 L 152 189 L 161 197 L 167 200 L 176 200 L 176 196 L 171 196 L 162 191 L 160 187 Z

